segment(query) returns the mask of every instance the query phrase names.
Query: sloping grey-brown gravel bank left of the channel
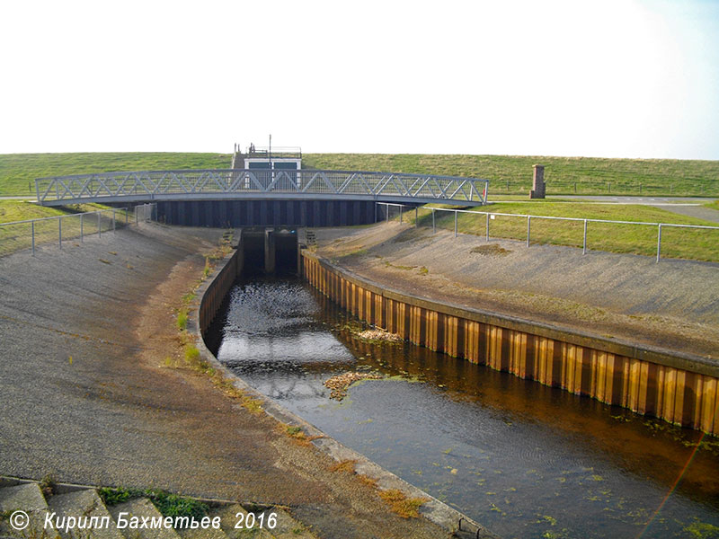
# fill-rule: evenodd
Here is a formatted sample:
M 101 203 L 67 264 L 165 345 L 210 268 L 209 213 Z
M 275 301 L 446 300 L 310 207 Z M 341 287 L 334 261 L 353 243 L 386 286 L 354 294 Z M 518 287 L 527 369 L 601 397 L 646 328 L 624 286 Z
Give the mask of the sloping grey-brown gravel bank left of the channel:
M 0 473 L 287 505 L 319 537 L 444 537 L 182 364 L 221 231 L 144 225 L 0 258 Z

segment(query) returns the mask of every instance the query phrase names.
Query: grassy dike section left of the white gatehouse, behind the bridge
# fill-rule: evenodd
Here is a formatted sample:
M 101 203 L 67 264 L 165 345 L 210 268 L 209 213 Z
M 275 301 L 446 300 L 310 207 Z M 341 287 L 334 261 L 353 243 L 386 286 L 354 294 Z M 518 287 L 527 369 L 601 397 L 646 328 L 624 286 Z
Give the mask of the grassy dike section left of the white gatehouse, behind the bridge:
M 230 154 L 165 152 L 3 154 L 0 155 L 0 196 L 35 194 L 35 179 L 91 172 L 229 168 Z

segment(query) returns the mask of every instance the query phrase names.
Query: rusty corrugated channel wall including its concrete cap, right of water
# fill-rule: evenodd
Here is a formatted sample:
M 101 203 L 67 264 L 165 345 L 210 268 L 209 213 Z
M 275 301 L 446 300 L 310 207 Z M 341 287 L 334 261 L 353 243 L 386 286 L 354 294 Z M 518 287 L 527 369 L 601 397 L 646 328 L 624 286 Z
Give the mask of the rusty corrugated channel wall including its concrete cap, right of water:
M 719 366 L 382 287 L 311 252 L 304 278 L 343 309 L 405 340 L 540 384 L 719 434 Z

